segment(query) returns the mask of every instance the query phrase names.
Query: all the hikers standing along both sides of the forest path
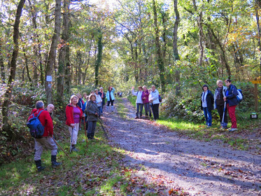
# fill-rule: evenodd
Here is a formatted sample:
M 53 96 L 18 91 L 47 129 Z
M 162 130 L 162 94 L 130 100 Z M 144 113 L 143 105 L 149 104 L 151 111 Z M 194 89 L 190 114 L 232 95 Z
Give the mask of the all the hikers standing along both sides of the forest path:
M 204 117 L 206 119 L 207 127 L 212 125 L 212 114 L 213 109 L 218 110 L 220 116 L 220 127 L 227 129 L 227 111 L 232 121 L 232 126 L 230 127 L 230 132 L 237 130 L 237 119 L 235 116 L 236 106 L 239 104 L 237 101 L 237 87 L 232 85 L 231 80 L 225 80 L 225 85 L 223 86 L 222 80 L 217 80 L 217 88 L 215 94 L 213 95 L 211 90 L 209 90 L 208 85 L 202 86 L 202 96 L 201 96 L 201 107 L 204 111 Z M 104 93 L 103 87 L 99 90 L 95 89 L 90 92 L 87 96 L 86 93 L 83 97 L 80 93 L 72 95 L 70 103 L 66 106 L 66 125 L 69 127 L 69 132 L 71 135 L 71 148 L 70 151 L 78 151 L 76 148 L 78 131 L 80 125 L 84 125 L 84 129 L 87 130 L 87 139 L 94 139 L 94 132 L 97 124 L 97 120 L 102 116 L 105 106 L 105 99 L 107 99 L 106 111 L 113 112 L 113 102 L 115 88 L 108 87 L 106 94 Z M 139 86 L 137 91 L 134 91 L 132 87 L 132 94 L 136 96 L 136 117 L 142 118 L 143 107 L 145 109 L 145 118 L 148 116 L 152 117 L 154 120 L 159 119 L 159 106 L 160 106 L 160 94 L 157 91 L 155 85 L 152 85 L 150 89 L 146 85 Z M 110 107 L 111 106 L 111 107 Z M 57 167 L 62 163 L 56 161 L 57 155 L 57 144 L 55 139 L 53 139 L 53 124 L 52 124 L 52 111 L 55 106 L 49 104 L 46 109 L 42 101 L 36 102 L 36 108 L 31 111 L 31 116 L 38 116 L 41 125 L 44 127 L 44 132 L 41 138 L 35 138 L 35 154 L 34 161 L 38 172 L 41 172 L 45 167 L 41 165 L 41 154 L 43 153 L 43 146 L 51 150 L 51 162 L 52 167 Z M 40 115 L 41 114 L 41 115 Z

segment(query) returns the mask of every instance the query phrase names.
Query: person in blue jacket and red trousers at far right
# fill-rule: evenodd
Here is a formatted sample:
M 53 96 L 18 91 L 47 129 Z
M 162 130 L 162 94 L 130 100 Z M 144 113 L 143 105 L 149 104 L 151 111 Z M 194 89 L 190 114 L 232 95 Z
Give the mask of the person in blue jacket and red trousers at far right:
M 227 91 L 225 92 L 224 101 L 227 102 L 227 111 L 231 119 L 230 132 L 237 131 L 236 107 L 239 104 L 237 101 L 237 87 L 231 84 L 231 80 L 225 80 Z

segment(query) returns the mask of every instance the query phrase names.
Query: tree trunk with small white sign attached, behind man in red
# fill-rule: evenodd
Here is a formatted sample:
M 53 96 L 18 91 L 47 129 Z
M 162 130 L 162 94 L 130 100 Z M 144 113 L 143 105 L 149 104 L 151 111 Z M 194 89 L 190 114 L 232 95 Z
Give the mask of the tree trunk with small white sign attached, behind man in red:
M 61 29 L 61 1 L 56 0 L 55 5 L 55 31 L 52 35 L 52 43 L 50 46 L 50 51 L 48 55 L 48 61 L 45 68 L 45 77 L 52 76 L 53 68 L 55 65 L 55 58 L 56 58 L 56 49 L 57 43 L 59 39 L 59 32 Z M 51 104 L 52 102 L 52 82 L 45 81 L 45 92 L 46 92 L 46 101 L 47 104 Z

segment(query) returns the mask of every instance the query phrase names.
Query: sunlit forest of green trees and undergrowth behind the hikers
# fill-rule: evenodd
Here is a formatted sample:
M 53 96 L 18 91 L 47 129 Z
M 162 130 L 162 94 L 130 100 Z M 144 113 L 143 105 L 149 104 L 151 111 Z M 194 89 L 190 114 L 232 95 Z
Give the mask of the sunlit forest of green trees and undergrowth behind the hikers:
M 200 124 L 202 85 L 231 79 L 244 94 L 241 124 L 261 111 L 251 83 L 261 80 L 260 0 L 0 3 L 0 165 L 33 145 L 26 123 L 38 100 L 55 105 L 60 134 L 69 97 L 99 87 L 132 101 L 132 86 L 155 85 L 162 118 Z

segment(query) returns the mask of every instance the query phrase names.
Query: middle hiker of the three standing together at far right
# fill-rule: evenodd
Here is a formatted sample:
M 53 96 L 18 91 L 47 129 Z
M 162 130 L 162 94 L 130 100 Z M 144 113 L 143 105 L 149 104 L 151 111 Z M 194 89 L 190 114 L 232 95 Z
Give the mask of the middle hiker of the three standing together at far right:
M 224 111 L 224 97 L 227 87 L 223 86 L 222 80 L 217 80 L 217 88 L 214 94 L 214 109 L 218 110 L 220 128 L 227 129 L 227 108 L 225 107 Z M 223 119 L 224 116 L 224 119 Z

